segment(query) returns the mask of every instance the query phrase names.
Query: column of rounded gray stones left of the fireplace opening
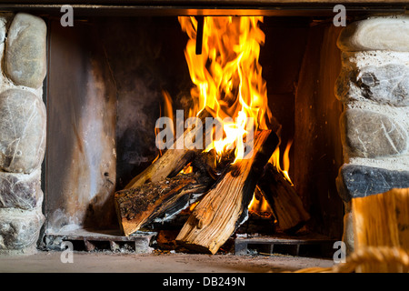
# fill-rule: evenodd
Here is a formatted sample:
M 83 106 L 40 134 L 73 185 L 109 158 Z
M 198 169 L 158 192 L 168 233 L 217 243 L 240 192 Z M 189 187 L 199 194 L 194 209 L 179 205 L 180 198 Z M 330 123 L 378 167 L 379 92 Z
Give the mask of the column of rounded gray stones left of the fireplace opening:
M 0 15 L 0 254 L 32 254 L 42 214 L 46 25 L 34 15 Z

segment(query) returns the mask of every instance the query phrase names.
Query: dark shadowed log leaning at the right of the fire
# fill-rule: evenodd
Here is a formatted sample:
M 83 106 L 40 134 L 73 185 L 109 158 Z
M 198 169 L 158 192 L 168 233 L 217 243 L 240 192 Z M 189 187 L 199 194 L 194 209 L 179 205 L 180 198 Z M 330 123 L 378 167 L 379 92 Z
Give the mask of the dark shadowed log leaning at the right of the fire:
M 285 232 L 296 232 L 310 219 L 294 186 L 271 163 L 265 166 L 257 186 L 272 207 L 278 226 Z

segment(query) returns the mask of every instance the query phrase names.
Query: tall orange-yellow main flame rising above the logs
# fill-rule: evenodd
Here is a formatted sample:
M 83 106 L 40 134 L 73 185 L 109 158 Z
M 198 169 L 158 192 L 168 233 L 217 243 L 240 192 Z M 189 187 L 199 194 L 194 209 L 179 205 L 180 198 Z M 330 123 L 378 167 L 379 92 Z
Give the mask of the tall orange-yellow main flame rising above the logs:
M 234 163 L 244 158 L 244 138 L 249 130 L 267 129 L 272 114 L 268 108 L 266 83 L 258 63 L 264 33 L 258 27 L 260 16 L 204 17 L 202 54 L 196 55 L 197 21 L 179 17 L 189 36 L 185 58 L 195 86 L 190 116 L 210 111 L 223 125 L 223 135 L 212 145 L 220 156 L 235 148 Z M 249 122 L 253 120 L 252 124 Z

